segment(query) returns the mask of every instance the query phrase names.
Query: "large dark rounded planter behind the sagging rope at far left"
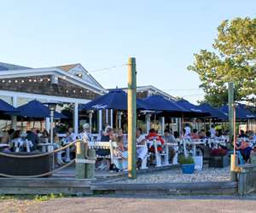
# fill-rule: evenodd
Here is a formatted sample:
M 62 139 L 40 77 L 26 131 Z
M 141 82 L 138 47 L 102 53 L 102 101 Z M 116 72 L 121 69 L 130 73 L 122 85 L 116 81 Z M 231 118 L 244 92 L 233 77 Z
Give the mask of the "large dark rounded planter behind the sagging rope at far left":
M 34 155 L 38 153 L 11 153 L 14 155 Z M 36 176 L 51 171 L 53 155 L 37 158 L 12 158 L 0 155 L 0 173 L 10 176 Z

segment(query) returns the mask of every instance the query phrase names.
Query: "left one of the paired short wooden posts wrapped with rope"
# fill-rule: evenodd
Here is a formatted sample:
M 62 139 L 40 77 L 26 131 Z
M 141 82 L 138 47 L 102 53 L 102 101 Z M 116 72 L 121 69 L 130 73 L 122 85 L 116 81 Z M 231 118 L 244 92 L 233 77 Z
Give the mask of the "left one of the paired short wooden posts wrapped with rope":
M 76 159 L 84 159 L 85 158 L 85 147 L 83 141 L 77 141 L 77 150 L 76 150 Z M 85 178 L 85 164 L 84 162 L 76 162 L 76 174 L 77 179 Z

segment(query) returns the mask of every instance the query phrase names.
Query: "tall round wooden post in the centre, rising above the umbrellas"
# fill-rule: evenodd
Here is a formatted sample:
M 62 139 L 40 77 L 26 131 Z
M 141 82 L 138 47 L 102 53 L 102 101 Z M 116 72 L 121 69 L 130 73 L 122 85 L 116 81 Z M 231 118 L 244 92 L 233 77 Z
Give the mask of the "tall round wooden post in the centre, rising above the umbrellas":
M 136 172 L 136 123 L 137 123 L 137 78 L 136 59 L 128 60 L 128 177 L 137 178 Z

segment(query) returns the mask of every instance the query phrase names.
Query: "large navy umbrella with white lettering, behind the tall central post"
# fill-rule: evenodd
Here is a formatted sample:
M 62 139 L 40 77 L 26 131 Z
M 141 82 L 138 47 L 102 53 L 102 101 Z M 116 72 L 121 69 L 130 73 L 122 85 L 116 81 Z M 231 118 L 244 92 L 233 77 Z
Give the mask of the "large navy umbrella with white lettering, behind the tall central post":
M 137 109 L 145 109 L 142 100 L 137 100 Z M 79 105 L 80 110 L 117 109 L 127 110 L 127 94 L 122 89 L 113 89 L 106 95 L 98 96 L 87 104 Z

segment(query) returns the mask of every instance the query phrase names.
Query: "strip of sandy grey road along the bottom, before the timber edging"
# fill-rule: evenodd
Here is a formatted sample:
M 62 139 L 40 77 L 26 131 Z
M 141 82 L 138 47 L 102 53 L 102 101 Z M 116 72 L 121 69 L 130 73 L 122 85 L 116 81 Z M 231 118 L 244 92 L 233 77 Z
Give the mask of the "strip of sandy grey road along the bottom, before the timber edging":
M 0 201 L 0 212 L 32 212 L 32 213 L 169 213 L 169 212 L 207 212 L 207 213 L 253 213 L 255 200 L 237 198 L 183 198 L 172 199 L 163 197 L 134 198 L 116 196 L 97 196 L 85 198 L 50 199 L 44 202 L 34 200 L 3 200 Z

